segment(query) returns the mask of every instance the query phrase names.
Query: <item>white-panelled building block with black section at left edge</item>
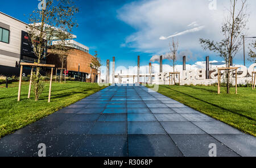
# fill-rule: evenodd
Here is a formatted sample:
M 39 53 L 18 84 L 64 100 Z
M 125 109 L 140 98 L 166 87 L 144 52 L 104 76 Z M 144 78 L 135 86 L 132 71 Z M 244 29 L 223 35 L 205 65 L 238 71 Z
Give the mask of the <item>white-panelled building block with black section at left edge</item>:
M 29 42 L 28 24 L 0 12 L 0 75 L 19 75 L 20 62 L 36 62 Z M 46 59 L 42 59 L 46 63 Z M 24 68 L 24 76 L 30 71 Z

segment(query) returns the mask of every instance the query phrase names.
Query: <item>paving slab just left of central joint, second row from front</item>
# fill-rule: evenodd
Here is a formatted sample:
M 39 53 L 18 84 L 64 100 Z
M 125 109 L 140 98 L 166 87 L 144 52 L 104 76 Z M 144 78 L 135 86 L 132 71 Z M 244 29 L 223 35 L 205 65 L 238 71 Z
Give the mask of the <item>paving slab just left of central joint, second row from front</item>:
M 97 122 L 88 134 L 91 135 L 125 135 L 127 133 L 127 122 Z

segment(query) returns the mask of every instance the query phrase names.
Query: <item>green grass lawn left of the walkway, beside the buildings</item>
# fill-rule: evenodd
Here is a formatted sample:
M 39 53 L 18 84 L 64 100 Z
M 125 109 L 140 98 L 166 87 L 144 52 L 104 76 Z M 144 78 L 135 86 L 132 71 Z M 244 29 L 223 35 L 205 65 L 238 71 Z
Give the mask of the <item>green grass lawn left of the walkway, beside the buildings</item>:
M 20 102 L 17 102 L 18 87 L 0 88 L 0 137 L 74 104 L 103 88 L 105 87 L 100 87 L 98 84 L 77 81 L 67 81 L 66 84 L 53 81 L 51 103 L 48 103 L 49 83 L 46 84 L 38 102 L 34 101 L 32 92 L 31 99 L 28 100 L 28 85 L 22 87 Z

